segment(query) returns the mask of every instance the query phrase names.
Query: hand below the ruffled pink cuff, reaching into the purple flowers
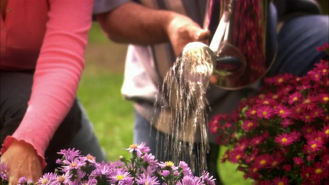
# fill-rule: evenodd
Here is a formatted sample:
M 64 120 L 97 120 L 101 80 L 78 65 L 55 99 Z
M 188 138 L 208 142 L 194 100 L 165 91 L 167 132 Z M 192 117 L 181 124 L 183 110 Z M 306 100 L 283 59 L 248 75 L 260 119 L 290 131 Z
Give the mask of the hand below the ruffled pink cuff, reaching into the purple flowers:
M 10 168 L 9 184 L 17 184 L 22 176 L 33 182 L 42 177 L 40 157 L 33 146 L 25 141 L 13 140 L 7 151 L 1 156 L 1 162 L 7 162 L 7 168 Z

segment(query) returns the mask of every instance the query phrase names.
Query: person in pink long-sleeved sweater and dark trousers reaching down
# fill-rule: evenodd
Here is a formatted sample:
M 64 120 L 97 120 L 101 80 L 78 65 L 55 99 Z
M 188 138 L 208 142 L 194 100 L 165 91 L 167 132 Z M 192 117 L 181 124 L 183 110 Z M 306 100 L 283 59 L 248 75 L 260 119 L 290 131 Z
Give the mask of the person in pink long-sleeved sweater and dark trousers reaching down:
M 93 3 L 1 0 L 1 162 L 10 183 L 53 172 L 68 146 L 105 160 L 76 98 Z

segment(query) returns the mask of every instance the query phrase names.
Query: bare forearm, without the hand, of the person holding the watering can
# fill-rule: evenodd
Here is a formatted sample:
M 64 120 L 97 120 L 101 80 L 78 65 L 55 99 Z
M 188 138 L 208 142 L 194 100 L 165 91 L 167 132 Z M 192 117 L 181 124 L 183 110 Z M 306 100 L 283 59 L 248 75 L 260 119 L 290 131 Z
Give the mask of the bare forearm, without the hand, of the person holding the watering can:
M 114 42 L 152 45 L 170 41 L 167 30 L 175 14 L 126 3 L 111 12 L 98 14 L 97 21 Z

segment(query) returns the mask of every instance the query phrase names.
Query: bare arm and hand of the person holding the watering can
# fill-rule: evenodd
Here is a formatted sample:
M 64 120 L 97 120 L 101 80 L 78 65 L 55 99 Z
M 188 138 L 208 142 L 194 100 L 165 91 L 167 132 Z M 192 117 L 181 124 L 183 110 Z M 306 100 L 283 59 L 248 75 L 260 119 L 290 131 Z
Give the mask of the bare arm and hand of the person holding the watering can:
M 139 45 L 171 42 L 176 55 L 187 43 L 205 41 L 210 34 L 187 16 L 136 3 L 125 3 L 98 14 L 97 21 L 114 42 Z

